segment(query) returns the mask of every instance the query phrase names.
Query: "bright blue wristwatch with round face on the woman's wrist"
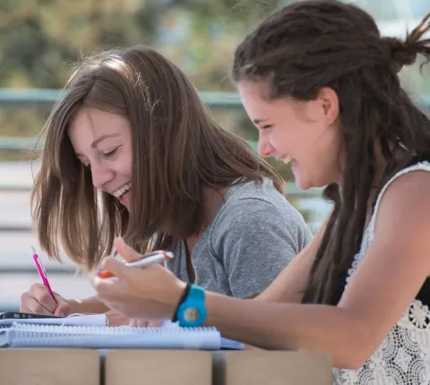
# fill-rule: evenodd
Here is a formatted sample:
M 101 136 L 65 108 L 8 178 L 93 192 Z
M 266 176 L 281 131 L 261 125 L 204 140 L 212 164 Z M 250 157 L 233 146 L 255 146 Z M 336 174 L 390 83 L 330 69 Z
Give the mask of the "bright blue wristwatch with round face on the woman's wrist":
M 174 321 L 179 321 L 180 326 L 195 327 L 202 325 L 205 320 L 204 290 L 202 287 L 187 285 L 176 308 Z

